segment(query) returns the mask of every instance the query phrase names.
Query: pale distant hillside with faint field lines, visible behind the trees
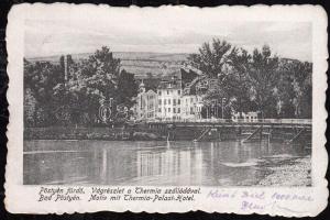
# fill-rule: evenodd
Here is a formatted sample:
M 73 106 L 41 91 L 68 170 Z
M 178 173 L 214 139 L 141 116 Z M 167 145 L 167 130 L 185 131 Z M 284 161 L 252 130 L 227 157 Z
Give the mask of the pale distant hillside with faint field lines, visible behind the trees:
M 74 61 L 88 58 L 91 53 L 72 54 Z M 145 53 L 145 52 L 113 52 L 113 56 L 121 59 L 121 66 L 127 72 L 143 78 L 147 73 L 154 76 L 164 76 L 179 70 L 188 54 Z M 58 56 L 26 58 L 30 62 L 59 63 Z

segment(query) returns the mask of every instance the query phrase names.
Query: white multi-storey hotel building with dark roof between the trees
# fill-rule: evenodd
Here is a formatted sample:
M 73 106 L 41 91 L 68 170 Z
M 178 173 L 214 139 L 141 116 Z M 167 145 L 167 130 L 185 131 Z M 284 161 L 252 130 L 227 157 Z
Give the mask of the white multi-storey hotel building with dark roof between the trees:
M 156 92 L 145 91 L 144 85 L 140 85 L 140 94 L 136 97 L 136 105 L 133 107 L 135 119 L 147 121 L 201 119 L 201 97 L 189 89 L 196 77 L 196 74 L 183 70 L 173 73 L 162 79 Z

